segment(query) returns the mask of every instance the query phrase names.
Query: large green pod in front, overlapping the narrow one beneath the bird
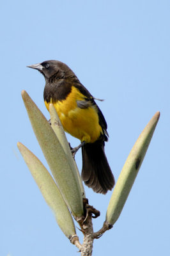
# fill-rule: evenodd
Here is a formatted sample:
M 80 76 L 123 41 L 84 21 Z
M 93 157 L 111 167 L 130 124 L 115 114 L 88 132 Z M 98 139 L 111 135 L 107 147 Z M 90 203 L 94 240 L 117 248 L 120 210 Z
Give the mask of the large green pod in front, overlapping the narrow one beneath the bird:
M 73 216 L 81 217 L 83 215 L 82 191 L 77 178 L 75 178 L 77 172 L 68 162 L 68 157 L 49 122 L 24 90 L 22 99 L 59 191 Z

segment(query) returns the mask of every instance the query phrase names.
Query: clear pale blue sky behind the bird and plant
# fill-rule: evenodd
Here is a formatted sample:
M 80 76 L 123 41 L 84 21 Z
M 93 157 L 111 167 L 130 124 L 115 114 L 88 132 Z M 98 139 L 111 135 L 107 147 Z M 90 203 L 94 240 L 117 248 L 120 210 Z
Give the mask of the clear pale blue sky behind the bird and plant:
M 1 3 L 0 255 L 76 255 L 59 229 L 17 149 L 21 141 L 45 159 L 29 124 L 21 90 L 45 116 L 45 81 L 27 65 L 65 62 L 107 120 L 105 152 L 116 180 L 135 140 L 156 111 L 160 120 L 134 187 L 112 230 L 93 255 L 169 255 L 169 1 L 3 1 Z M 79 141 L 67 136 L 75 146 Z M 81 152 L 76 161 L 81 170 Z M 86 187 L 105 220 L 111 192 Z M 77 234 L 82 236 L 77 230 Z

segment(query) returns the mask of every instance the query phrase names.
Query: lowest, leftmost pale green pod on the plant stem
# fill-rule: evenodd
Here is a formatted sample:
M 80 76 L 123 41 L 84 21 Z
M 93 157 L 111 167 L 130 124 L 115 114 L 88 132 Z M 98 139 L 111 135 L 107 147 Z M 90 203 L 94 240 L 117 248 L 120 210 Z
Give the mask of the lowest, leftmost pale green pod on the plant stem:
M 76 232 L 72 216 L 50 173 L 40 160 L 22 143 L 17 143 L 17 146 L 45 201 L 54 212 L 59 227 L 66 237 L 73 236 Z

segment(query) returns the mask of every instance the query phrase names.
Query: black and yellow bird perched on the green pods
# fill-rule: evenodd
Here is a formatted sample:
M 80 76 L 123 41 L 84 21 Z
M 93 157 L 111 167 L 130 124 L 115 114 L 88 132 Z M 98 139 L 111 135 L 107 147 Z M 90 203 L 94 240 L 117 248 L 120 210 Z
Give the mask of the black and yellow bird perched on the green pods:
M 95 98 L 61 61 L 43 61 L 28 67 L 45 77 L 43 98 L 47 109 L 54 104 L 65 131 L 81 140 L 82 180 L 93 191 L 107 193 L 114 186 L 114 177 L 104 152 L 107 124 Z

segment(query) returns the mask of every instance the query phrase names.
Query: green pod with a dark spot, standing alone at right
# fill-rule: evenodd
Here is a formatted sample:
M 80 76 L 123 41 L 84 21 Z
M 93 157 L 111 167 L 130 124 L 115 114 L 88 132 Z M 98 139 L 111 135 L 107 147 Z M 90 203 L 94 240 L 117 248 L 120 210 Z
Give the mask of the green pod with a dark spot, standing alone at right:
M 118 220 L 123 206 L 127 200 L 130 189 L 134 184 L 135 177 L 143 162 L 144 156 L 150 144 L 153 132 L 158 122 L 160 113 L 157 112 L 144 128 L 135 142 L 116 183 L 107 208 L 106 220 L 113 225 Z

